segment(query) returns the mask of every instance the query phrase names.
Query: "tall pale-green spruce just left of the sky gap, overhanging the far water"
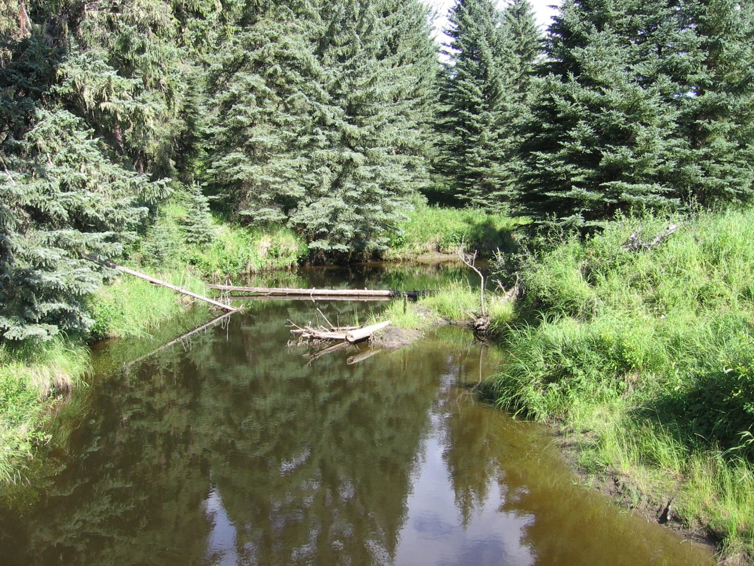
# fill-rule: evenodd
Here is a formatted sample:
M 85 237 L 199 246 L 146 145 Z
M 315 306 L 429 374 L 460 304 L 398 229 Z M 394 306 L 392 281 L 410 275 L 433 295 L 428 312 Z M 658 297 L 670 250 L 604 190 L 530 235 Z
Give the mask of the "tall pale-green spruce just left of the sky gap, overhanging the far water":
M 416 0 L 325 2 L 317 54 L 328 110 L 317 119 L 308 186 L 290 222 L 322 253 L 384 248 L 426 183 L 426 8 Z M 400 17 L 397 16 L 400 14 Z

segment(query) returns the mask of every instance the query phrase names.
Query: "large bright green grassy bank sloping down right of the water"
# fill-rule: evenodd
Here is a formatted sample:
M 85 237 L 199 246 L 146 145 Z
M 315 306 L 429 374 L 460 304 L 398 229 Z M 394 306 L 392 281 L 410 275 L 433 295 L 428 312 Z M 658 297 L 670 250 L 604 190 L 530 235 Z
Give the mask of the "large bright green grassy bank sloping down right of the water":
M 674 221 L 651 248 L 626 245 L 670 220 L 620 220 L 529 258 L 523 309 L 540 315 L 507 335 L 492 388 L 501 407 L 559 423 L 584 469 L 673 497 L 676 518 L 750 557 L 754 211 Z

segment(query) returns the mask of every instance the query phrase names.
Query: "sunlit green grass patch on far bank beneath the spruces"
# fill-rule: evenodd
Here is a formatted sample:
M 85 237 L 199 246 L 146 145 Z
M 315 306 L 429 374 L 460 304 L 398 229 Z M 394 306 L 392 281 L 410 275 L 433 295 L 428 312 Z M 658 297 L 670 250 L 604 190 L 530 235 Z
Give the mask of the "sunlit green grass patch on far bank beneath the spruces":
M 385 257 L 392 260 L 433 252 L 452 254 L 461 244 L 489 257 L 497 248 L 515 248 L 516 230 L 524 223 L 524 219 L 470 208 L 418 205 L 392 238 Z

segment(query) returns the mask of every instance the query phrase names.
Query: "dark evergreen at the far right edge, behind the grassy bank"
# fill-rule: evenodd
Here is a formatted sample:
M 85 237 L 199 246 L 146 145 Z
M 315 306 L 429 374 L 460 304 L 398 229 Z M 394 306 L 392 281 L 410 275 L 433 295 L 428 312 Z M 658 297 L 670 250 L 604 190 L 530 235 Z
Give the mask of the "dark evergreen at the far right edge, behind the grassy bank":
M 702 205 L 754 195 L 754 5 L 685 0 L 676 94 L 680 196 Z

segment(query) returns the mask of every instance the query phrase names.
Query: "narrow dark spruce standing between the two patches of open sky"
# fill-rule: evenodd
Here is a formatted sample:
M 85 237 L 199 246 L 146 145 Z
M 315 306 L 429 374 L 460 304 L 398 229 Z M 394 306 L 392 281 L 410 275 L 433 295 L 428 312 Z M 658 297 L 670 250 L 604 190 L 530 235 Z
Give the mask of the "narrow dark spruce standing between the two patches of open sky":
M 446 54 L 438 116 L 440 161 L 438 169 L 451 178 L 456 190 L 472 205 L 498 209 L 513 195 L 511 149 L 516 103 L 526 90 L 526 63 L 515 48 L 528 50 L 528 38 L 519 38 L 513 24 L 526 3 L 507 12 L 508 26 L 491 0 L 459 0 L 450 12 L 451 38 Z M 528 11 L 529 18 L 532 13 Z M 517 40 L 520 40 L 520 44 Z M 528 55 L 528 54 L 527 54 Z M 530 64 L 530 62 L 529 62 Z M 516 85 L 516 81 L 519 82 Z

